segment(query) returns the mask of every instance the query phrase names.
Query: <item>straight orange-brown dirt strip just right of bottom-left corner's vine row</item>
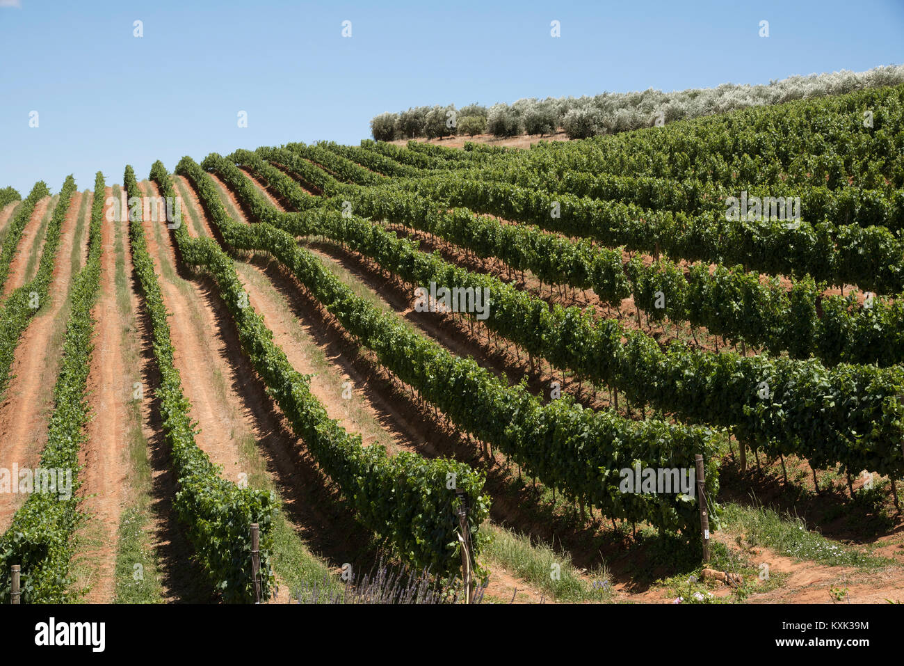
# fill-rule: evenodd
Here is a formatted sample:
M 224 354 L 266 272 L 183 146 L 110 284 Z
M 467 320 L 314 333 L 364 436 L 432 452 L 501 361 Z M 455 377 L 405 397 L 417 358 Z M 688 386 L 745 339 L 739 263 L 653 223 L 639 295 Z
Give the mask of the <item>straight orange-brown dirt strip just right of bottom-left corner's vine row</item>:
M 108 187 L 104 196 L 110 196 Z M 101 224 L 100 290 L 92 311 L 95 319 L 94 353 L 88 375 L 91 416 L 88 441 L 80 452 L 80 493 L 87 511 L 102 534 L 102 546 L 89 549 L 96 567 L 86 601 L 109 603 L 116 594 L 117 530 L 127 490 L 127 401 L 132 398 L 131 373 L 126 367 L 116 294 L 116 229 L 104 210 Z

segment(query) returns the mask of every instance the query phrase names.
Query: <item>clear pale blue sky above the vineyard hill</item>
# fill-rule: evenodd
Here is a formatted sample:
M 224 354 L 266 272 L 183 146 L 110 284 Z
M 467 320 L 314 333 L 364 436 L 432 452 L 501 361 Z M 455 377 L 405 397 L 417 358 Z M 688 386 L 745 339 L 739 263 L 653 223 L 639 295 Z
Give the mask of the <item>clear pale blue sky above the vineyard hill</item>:
M 0 0 L 0 186 L 56 192 L 73 173 L 85 189 L 98 169 L 121 182 L 157 158 L 356 144 L 374 115 L 420 104 L 767 83 L 902 51 L 904 0 Z

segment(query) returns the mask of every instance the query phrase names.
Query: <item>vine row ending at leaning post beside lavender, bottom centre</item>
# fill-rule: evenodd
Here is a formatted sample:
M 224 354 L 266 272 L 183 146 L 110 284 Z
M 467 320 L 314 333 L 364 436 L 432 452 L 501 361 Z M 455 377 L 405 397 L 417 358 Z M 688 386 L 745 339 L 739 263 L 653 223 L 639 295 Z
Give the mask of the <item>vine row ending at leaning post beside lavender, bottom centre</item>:
M 192 181 L 205 211 L 227 243 L 240 249 L 271 251 L 266 238 L 253 247 L 233 243 L 249 230 L 226 216 L 210 176 L 193 160 L 184 157 L 176 173 Z M 152 177 L 165 194 L 173 192 L 159 162 Z M 463 462 L 427 460 L 411 452 L 390 456 L 380 445 L 364 447 L 360 434 L 347 433 L 327 416 L 323 404 L 310 392 L 310 377 L 300 375 L 289 364 L 282 349 L 273 343 L 273 334 L 263 319 L 250 306 L 240 305 L 244 290 L 219 245 L 210 239 L 193 240 L 183 228 L 177 229 L 175 236 L 184 262 L 202 266 L 212 274 L 235 320 L 242 348 L 270 395 L 363 524 L 391 542 L 411 564 L 427 566 L 443 576 L 457 571 L 461 558 L 455 490 L 467 493 L 472 508 L 472 541 L 479 551 L 479 526 L 489 512 L 489 499 L 481 495 L 483 476 Z

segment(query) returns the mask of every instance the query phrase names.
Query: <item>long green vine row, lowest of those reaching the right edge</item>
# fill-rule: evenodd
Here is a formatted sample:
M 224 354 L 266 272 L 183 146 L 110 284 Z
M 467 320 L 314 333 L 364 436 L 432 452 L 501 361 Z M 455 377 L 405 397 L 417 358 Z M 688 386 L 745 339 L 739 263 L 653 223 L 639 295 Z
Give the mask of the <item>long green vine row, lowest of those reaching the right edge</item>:
M 594 321 L 574 307 L 550 309 L 493 277 L 419 252 L 415 243 L 355 216 L 319 210 L 281 214 L 229 160 L 213 155 L 204 166 L 224 178 L 252 214 L 293 235 L 319 233 L 345 243 L 414 285 L 432 281 L 489 290 L 493 307 L 487 328 L 553 366 L 617 387 L 637 404 L 694 423 L 731 427 L 754 448 L 794 453 L 821 468 L 842 463 L 855 473 L 864 467 L 883 474 L 904 471 L 898 444 L 904 371 L 897 366 L 826 368 L 813 359 L 711 354 L 677 343 L 662 349 L 616 319 Z

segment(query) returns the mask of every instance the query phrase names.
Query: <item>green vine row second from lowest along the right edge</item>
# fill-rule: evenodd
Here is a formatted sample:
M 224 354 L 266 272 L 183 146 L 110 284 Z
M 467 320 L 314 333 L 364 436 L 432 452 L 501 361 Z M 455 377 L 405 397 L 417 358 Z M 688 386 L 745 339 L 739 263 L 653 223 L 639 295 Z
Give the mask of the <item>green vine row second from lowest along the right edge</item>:
M 292 195 L 285 193 L 297 187 L 282 171 L 249 151 L 236 151 L 230 158 L 292 205 L 293 199 L 288 198 Z M 787 351 L 795 358 L 817 357 L 830 366 L 891 366 L 904 361 L 901 299 L 875 297 L 862 307 L 852 297 L 823 296 L 825 285 L 808 277 L 786 290 L 777 281 L 763 283 L 758 273 L 745 272 L 740 266 L 719 265 L 711 273 L 704 264 L 684 269 L 667 259 L 648 266 L 640 257 L 625 262 L 620 250 L 543 232 L 533 225 L 504 224 L 464 208 L 438 210 L 427 198 L 398 187 L 345 190 L 322 205 L 341 209 L 345 201 L 358 215 L 436 234 L 482 258 L 495 257 L 511 269 L 530 270 L 541 281 L 592 289 L 616 307 L 632 297 L 650 319 L 668 317 L 735 342 L 776 353 Z M 306 208 L 310 207 L 306 201 Z

